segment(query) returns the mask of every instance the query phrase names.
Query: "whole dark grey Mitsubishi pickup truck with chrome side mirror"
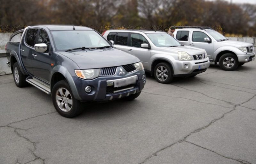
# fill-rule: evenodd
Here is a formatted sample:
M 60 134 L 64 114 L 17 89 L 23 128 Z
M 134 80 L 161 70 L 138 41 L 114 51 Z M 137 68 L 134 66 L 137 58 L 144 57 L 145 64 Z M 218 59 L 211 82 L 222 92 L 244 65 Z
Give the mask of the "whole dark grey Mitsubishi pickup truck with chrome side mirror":
M 137 57 L 88 27 L 29 26 L 10 37 L 6 53 L 15 84 L 51 94 L 55 109 L 68 118 L 81 113 L 82 102 L 133 100 L 146 82 Z

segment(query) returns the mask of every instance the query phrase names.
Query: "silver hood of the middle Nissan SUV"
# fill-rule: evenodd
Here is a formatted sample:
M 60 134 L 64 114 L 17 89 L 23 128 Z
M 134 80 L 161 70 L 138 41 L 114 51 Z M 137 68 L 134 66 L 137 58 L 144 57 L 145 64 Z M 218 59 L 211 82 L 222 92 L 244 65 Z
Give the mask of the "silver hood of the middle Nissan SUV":
M 168 53 L 177 53 L 179 51 L 183 51 L 188 53 L 189 55 L 198 55 L 205 53 L 204 49 L 202 48 L 196 48 L 191 46 L 178 46 L 178 47 L 157 47 L 159 51 L 164 51 Z

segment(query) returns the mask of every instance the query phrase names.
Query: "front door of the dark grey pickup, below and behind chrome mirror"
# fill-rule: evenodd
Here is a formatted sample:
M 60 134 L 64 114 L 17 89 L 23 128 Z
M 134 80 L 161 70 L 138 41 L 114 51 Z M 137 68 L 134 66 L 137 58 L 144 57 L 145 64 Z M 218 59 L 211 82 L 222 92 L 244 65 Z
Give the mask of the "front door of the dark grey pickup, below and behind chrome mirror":
M 39 30 L 36 44 L 45 43 L 48 49 L 44 53 L 35 52 L 32 55 L 32 67 L 34 76 L 44 82 L 50 83 L 51 54 L 49 54 L 50 40 L 46 31 Z

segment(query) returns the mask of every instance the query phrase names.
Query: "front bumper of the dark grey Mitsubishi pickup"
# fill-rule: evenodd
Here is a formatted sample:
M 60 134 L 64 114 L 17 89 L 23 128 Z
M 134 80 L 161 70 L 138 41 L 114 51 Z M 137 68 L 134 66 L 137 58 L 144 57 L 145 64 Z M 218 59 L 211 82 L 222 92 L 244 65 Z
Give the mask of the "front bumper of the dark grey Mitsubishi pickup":
M 84 80 L 78 77 L 72 77 L 76 90 L 79 95 L 79 100 L 82 102 L 87 101 L 109 101 L 118 98 L 123 98 L 125 96 L 129 96 L 131 94 L 135 94 L 140 92 L 146 83 L 143 81 L 143 75 L 145 75 L 144 71 L 134 71 L 132 73 L 127 73 L 125 76 L 115 75 L 115 76 L 100 76 L 93 80 Z M 128 85 L 120 85 L 114 86 L 114 81 L 136 77 L 136 81 L 128 83 Z M 120 81 L 119 81 L 120 82 Z M 133 84 L 134 83 L 134 84 Z M 92 91 L 90 93 L 85 92 L 85 87 L 91 86 Z M 120 96 L 121 95 L 121 96 Z

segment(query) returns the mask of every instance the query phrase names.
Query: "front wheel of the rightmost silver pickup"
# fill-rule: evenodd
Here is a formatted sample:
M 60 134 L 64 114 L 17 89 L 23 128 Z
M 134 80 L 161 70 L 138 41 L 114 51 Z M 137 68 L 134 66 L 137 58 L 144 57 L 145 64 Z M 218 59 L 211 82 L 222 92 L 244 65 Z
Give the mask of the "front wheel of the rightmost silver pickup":
M 236 55 L 232 53 L 225 53 L 219 60 L 220 68 L 225 71 L 234 71 L 238 67 L 238 64 Z

